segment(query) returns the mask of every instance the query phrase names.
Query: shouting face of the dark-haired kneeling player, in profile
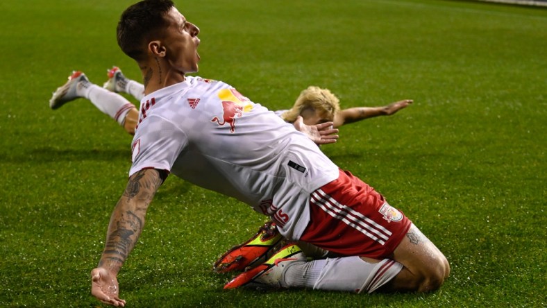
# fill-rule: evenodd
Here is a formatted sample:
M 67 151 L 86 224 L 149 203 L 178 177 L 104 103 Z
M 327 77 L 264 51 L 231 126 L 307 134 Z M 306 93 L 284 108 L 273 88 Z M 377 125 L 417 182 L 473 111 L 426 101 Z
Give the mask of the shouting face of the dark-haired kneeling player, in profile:
M 166 16 L 169 27 L 165 33 L 166 58 L 171 67 L 184 74 L 198 71 L 199 28 L 187 22 L 176 8 L 171 8 Z

